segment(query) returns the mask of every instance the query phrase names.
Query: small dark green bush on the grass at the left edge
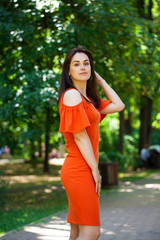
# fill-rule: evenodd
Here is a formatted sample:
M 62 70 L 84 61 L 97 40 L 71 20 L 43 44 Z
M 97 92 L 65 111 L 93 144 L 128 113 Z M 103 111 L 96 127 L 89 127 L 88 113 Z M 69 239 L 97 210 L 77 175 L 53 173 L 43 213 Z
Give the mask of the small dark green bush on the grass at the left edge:
M 8 195 L 8 181 L 4 179 L 2 173 L 0 173 L 0 209 L 3 210 L 6 205 Z

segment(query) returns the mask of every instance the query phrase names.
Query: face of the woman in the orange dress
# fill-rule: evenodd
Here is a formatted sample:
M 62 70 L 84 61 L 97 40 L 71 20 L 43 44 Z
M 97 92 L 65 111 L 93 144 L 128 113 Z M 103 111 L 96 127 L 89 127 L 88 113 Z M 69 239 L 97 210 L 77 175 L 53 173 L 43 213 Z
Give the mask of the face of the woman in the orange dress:
M 91 65 L 85 53 L 77 52 L 73 55 L 69 68 L 69 76 L 74 81 L 87 81 L 91 76 Z

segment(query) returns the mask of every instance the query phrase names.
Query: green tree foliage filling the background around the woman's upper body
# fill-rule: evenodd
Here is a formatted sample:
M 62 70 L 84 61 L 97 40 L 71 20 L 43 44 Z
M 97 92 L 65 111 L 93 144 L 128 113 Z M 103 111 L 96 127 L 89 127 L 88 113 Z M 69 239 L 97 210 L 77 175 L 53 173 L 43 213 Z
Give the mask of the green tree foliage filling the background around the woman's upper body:
M 147 8 L 145 17 L 140 16 L 135 1 L 40 2 L 41 7 L 32 0 L 0 3 L 0 143 L 14 153 L 28 139 L 44 141 L 47 131 L 57 134 L 61 67 L 68 50 L 78 45 L 93 52 L 95 70 L 122 98 L 127 111 L 133 112 L 132 126 L 138 129 L 141 96 L 159 106 L 157 2 L 153 1 L 152 21 L 147 19 Z M 159 128 L 157 112 L 156 107 L 153 126 Z M 112 115 L 112 120 L 118 117 Z M 116 129 L 107 124 L 101 127 L 100 151 L 116 151 L 119 123 Z M 58 134 L 55 139 L 51 144 L 58 145 Z

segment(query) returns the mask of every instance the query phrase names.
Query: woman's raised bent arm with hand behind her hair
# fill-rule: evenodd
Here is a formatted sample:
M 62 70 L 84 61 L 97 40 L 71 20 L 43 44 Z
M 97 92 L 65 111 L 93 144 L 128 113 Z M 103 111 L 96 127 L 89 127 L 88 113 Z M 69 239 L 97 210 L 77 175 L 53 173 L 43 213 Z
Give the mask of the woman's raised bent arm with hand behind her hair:
M 104 90 L 107 98 L 112 101 L 107 107 L 100 111 L 101 114 L 109 114 L 120 112 L 125 108 L 124 103 L 121 101 L 117 93 L 106 83 L 106 81 L 96 73 L 97 83 L 102 87 Z

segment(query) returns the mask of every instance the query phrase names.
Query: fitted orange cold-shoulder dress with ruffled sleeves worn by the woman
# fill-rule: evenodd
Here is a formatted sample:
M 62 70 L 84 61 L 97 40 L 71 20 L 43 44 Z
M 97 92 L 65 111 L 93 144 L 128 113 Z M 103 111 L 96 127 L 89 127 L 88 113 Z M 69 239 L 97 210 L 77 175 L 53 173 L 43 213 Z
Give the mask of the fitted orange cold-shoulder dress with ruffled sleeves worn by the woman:
M 100 99 L 100 108 L 96 109 L 82 95 L 82 102 L 75 106 L 66 106 L 63 103 L 63 95 L 64 93 L 59 104 L 59 132 L 64 134 L 68 152 L 61 169 L 62 184 L 68 197 L 67 222 L 78 225 L 99 226 L 99 196 L 95 190 L 91 169 L 78 149 L 73 133 L 86 129 L 98 163 L 99 123 L 105 117 L 105 114 L 102 115 L 99 111 L 111 101 Z

